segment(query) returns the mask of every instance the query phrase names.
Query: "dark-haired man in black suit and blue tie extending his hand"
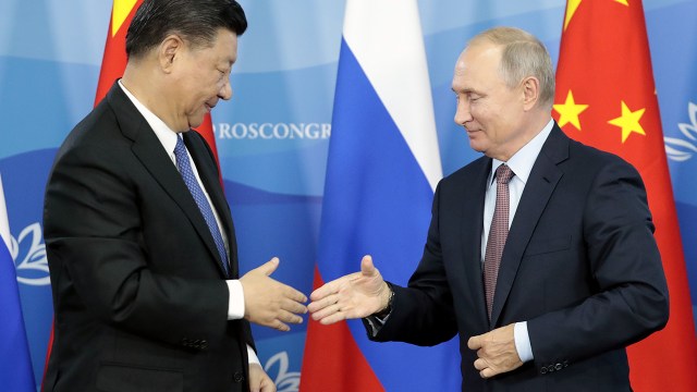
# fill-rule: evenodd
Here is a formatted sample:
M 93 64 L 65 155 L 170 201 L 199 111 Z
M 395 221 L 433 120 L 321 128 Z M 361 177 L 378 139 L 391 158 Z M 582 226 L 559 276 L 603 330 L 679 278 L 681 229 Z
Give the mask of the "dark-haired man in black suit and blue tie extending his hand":
M 192 127 L 230 99 L 232 0 L 145 0 L 123 78 L 58 151 L 45 200 L 56 310 L 47 391 L 276 391 L 249 322 L 288 331 L 306 297 L 239 278 L 212 152 Z

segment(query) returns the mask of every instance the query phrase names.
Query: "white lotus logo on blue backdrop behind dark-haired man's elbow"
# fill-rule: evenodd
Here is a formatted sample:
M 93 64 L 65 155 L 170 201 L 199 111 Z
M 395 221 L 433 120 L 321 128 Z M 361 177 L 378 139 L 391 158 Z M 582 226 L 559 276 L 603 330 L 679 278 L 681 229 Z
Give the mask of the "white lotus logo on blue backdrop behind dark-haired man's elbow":
M 17 240 L 11 236 L 10 254 L 16 265 L 17 282 L 37 286 L 51 284 L 42 240 L 38 222 L 24 228 Z M 20 249 L 23 250 L 22 255 Z

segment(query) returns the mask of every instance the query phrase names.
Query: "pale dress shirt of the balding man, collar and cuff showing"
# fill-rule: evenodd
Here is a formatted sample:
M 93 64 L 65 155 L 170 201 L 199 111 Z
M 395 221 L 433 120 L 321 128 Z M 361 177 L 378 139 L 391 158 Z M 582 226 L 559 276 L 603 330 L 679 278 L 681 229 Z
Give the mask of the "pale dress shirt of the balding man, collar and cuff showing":
M 508 162 L 502 162 L 498 159 L 493 159 L 491 163 L 491 172 L 489 173 L 489 181 L 487 182 L 489 186 L 487 187 L 487 193 L 484 201 L 484 230 L 481 232 L 482 265 L 485 254 L 487 252 L 489 229 L 491 228 L 491 220 L 493 219 L 493 209 L 497 204 L 497 186 L 494 181 L 497 169 L 502 163 L 505 163 L 511 168 L 511 170 L 513 170 L 513 173 L 515 173 L 515 175 L 511 179 L 511 182 L 509 182 L 509 228 L 511 228 L 511 223 L 513 223 L 513 219 L 515 218 L 515 210 L 518 208 L 521 196 L 523 196 L 525 184 L 527 184 L 527 179 L 530 175 L 530 171 L 533 171 L 533 166 L 537 160 L 537 156 L 542 150 L 545 140 L 547 140 L 550 132 L 552 132 L 553 125 L 554 121 L 550 120 L 547 125 L 545 125 L 542 131 L 525 146 L 523 146 L 523 148 L 515 152 Z M 521 360 L 523 360 L 524 363 L 533 360 L 533 347 L 530 345 L 530 338 L 527 332 L 527 321 L 516 322 L 513 328 L 513 334 L 515 339 L 515 348 L 518 352 Z

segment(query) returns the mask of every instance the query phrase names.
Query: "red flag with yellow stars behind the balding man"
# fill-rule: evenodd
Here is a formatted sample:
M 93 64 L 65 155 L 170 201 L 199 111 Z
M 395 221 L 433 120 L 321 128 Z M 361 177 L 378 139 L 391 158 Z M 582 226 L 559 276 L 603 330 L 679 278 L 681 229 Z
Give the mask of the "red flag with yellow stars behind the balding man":
M 697 339 L 639 0 L 568 0 L 554 117 L 564 132 L 640 173 L 670 290 L 662 331 L 628 347 L 635 391 L 697 391 Z

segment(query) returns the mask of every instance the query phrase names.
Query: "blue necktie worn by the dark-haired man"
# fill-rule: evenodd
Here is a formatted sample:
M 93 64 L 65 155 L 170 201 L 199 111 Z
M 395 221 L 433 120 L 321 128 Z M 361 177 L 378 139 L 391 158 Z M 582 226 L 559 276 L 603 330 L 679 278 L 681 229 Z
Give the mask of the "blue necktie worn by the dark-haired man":
M 184 146 L 184 140 L 179 135 L 176 136 L 176 146 L 174 147 L 174 158 L 176 158 L 176 168 L 182 174 L 188 192 L 191 192 L 192 196 L 194 196 L 194 200 L 196 201 L 200 213 L 204 216 L 206 224 L 208 224 L 208 230 L 210 230 L 210 234 L 213 236 L 216 247 L 218 248 L 220 259 L 222 260 L 222 268 L 225 270 L 225 275 L 229 277 L 230 268 L 228 267 L 228 253 L 225 252 L 225 244 L 223 243 L 222 235 L 220 234 L 220 230 L 218 229 L 218 223 L 216 222 L 213 210 L 211 209 L 210 204 L 208 204 L 208 199 L 206 199 L 204 191 L 198 185 L 198 181 L 196 181 L 196 176 L 194 175 L 192 166 L 188 162 L 188 152 L 186 151 L 186 147 Z

